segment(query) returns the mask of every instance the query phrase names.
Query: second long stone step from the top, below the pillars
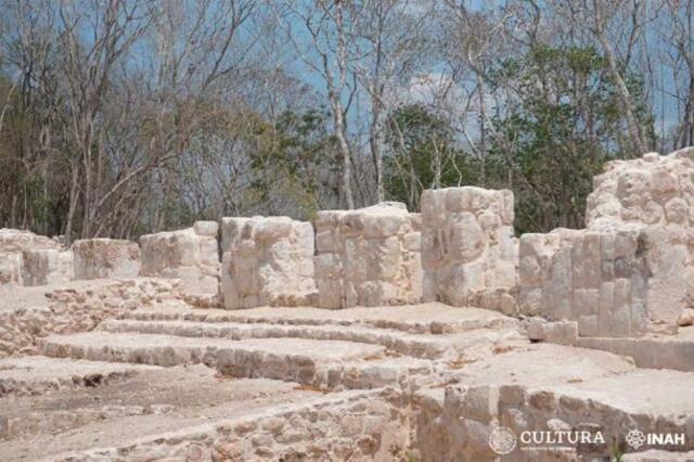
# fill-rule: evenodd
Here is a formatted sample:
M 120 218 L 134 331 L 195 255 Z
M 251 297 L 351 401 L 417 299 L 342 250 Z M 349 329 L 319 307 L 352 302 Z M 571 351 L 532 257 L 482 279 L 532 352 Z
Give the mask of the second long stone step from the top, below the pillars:
M 331 324 L 249 324 L 111 319 L 102 322 L 99 330 L 112 333 L 137 332 L 182 337 L 220 337 L 233 341 L 246 338 L 308 338 L 317 341 L 356 342 L 369 345 L 381 345 L 400 355 L 427 359 L 444 357 L 451 348 L 452 341 L 454 341 L 454 337 L 448 335 L 409 334 L 394 330 Z

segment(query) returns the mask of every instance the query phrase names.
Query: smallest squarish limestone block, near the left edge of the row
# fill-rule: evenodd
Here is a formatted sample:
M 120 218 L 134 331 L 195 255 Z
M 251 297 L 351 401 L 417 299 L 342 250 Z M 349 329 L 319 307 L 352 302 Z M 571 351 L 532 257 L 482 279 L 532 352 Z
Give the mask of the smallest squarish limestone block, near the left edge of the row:
M 24 285 L 57 284 L 73 280 L 72 251 L 24 251 L 22 259 Z

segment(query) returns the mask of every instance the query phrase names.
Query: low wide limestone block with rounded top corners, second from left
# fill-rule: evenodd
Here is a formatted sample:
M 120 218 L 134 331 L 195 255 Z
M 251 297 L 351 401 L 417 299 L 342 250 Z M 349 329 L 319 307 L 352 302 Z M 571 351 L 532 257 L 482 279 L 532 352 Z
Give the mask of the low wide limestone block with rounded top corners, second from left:
M 140 247 L 117 239 L 87 239 L 73 244 L 75 279 L 137 278 Z

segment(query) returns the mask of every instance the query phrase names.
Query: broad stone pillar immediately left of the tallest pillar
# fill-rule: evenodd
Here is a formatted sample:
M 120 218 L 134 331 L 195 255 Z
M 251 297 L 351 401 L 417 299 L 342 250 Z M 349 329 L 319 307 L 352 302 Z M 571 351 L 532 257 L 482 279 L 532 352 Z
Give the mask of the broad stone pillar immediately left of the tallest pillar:
M 316 219 L 318 306 L 404 305 L 422 296 L 421 218 L 403 204 L 323 210 Z

